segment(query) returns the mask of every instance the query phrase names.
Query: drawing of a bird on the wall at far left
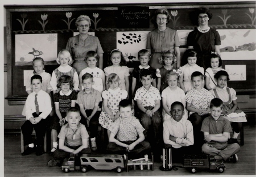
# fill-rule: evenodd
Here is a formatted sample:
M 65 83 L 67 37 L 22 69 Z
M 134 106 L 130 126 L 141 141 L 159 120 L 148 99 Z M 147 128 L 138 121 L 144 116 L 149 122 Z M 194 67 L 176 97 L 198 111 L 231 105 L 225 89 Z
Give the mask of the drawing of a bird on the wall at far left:
M 57 33 L 15 35 L 15 65 L 32 65 L 35 57 L 44 65 L 57 64 Z

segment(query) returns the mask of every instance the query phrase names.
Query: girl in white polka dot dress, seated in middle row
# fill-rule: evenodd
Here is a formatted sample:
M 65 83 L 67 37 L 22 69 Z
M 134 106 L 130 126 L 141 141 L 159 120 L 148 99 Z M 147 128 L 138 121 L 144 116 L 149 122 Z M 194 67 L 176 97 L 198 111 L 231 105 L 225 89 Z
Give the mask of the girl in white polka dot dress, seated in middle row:
M 103 128 L 109 129 L 113 122 L 117 120 L 120 115 L 118 109 L 119 102 L 127 98 L 128 93 L 126 90 L 121 90 L 121 88 L 119 88 L 120 83 L 121 80 L 117 74 L 109 74 L 109 89 L 102 92 L 104 109 L 98 118 L 98 121 Z M 109 135 L 110 131 L 108 130 L 108 137 Z

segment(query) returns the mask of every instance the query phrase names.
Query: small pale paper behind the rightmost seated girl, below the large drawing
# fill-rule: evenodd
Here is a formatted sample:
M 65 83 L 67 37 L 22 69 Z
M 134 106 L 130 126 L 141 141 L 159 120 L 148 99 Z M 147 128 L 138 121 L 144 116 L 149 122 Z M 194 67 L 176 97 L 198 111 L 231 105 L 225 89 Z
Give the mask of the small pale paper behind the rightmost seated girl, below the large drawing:
M 226 65 L 230 81 L 246 81 L 246 65 Z

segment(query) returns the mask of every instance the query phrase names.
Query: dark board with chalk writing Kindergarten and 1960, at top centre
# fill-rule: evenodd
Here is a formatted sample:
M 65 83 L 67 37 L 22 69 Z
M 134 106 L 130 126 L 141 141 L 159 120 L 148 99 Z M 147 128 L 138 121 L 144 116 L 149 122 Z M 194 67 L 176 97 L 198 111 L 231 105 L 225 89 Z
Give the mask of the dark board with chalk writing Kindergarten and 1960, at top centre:
M 148 7 L 118 7 L 118 28 L 148 28 L 150 13 Z

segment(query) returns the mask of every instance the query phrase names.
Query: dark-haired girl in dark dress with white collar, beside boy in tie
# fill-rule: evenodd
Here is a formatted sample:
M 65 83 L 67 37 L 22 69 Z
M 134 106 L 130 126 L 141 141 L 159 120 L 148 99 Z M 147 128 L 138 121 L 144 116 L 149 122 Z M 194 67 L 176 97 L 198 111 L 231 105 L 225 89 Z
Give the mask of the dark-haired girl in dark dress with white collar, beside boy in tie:
M 65 123 L 65 117 L 67 116 L 67 110 L 70 107 L 76 106 L 76 98 L 77 93 L 72 91 L 71 88 L 73 87 L 72 79 L 69 75 L 62 75 L 59 78 L 59 82 L 57 87 L 60 88 L 58 93 L 54 94 L 55 99 L 55 111 L 56 115 L 53 117 L 50 129 L 52 129 L 52 142 L 53 147 L 50 151 L 50 155 L 57 149 L 57 135 L 60 131 L 60 128 Z

